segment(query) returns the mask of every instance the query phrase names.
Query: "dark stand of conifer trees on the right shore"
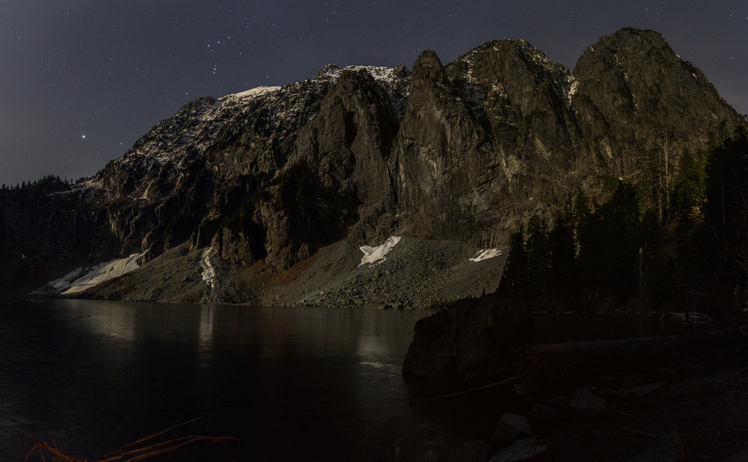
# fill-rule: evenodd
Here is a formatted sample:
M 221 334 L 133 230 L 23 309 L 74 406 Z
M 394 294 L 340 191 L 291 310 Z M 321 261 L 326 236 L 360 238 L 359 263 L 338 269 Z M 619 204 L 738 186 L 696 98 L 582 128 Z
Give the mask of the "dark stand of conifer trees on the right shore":
M 675 172 L 667 144 L 640 149 L 637 181 L 614 178 L 602 204 L 580 190 L 552 224 L 534 216 L 511 234 L 498 294 L 580 308 L 637 296 L 745 306 L 748 136 L 741 129 L 708 150 L 684 151 Z

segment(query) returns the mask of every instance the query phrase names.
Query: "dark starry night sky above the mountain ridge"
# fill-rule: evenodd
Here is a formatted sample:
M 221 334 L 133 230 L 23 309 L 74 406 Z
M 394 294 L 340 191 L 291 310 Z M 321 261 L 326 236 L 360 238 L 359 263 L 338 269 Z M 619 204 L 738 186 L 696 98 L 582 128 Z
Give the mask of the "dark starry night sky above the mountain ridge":
M 513 38 L 573 69 L 622 27 L 663 33 L 748 113 L 745 0 L 0 0 L 0 183 L 92 175 L 197 97 L 329 63 L 411 69 Z

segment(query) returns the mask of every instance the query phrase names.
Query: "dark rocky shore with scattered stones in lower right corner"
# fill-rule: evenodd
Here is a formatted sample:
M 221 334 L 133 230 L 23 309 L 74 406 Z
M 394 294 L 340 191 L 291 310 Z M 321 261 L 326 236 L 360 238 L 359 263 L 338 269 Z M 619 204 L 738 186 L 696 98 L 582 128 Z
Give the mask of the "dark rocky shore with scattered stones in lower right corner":
M 457 438 L 403 442 L 351 460 L 748 460 L 745 338 L 729 348 L 541 388 L 516 373 L 469 374 L 411 403 L 448 420 Z

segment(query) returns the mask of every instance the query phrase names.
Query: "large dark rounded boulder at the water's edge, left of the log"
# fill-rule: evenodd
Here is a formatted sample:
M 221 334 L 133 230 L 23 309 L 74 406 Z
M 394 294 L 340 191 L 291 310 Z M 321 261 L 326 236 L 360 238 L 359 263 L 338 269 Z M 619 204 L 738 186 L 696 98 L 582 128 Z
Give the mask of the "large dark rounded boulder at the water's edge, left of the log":
M 459 300 L 416 323 L 403 374 L 464 377 L 485 367 L 511 364 L 510 350 L 531 340 L 530 312 L 495 297 Z

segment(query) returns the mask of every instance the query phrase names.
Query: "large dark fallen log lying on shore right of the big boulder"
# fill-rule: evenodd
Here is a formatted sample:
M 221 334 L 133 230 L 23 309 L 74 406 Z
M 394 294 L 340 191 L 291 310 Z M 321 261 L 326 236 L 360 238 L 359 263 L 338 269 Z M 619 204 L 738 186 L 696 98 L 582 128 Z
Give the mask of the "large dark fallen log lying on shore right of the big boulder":
M 662 337 L 530 345 L 519 354 L 517 377 L 528 386 L 552 387 L 580 377 L 639 369 L 720 348 L 731 349 L 740 341 L 736 329 L 725 328 Z

